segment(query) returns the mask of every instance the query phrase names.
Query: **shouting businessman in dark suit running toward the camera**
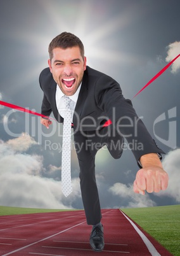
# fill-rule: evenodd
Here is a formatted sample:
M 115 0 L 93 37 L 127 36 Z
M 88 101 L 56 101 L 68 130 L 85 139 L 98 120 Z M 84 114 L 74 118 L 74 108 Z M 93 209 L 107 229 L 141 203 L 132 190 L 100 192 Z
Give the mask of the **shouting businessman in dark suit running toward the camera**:
M 95 177 L 96 153 L 106 145 L 112 157 L 119 159 L 124 138 L 129 145 L 138 142 L 141 147 L 131 147 L 140 168 L 134 192 L 144 195 L 145 191 L 159 192 L 167 188 L 168 174 L 160 161 L 164 152 L 136 115 L 131 101 L 122 95 L 119 83 L 86 66 L 84 46 L 77 36 L 70 32 L 56 36 L 49 44 L 48 64 L 39 76 L 44 92 L 41 113 L 49 117 L 53 111 L 56 120 L 63 122 L 63 97 L 70 99 L 82 201 L 87 224 L 93 225 L 90 245 L 94 251 L 101 252 L 105 243 Z M 41 118 L 41 124 L 49 128 L 51 120 Z

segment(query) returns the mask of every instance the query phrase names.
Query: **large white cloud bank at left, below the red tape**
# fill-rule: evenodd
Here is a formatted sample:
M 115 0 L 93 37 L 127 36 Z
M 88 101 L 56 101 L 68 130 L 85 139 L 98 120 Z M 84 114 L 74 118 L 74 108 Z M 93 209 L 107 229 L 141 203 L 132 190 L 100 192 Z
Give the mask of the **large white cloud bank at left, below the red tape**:
M 72 209 L 80 197 L 79 178 L 72 179 L 73 193 L 65 199 L 61 181 L 42 176 L 42 155 L 23 153 L 32 145 L 36 145 L 34 139 L 25 134 L 7 142 L 0 141 L 0 205 Z M 53 169 L 56 167 L 51 166 Z

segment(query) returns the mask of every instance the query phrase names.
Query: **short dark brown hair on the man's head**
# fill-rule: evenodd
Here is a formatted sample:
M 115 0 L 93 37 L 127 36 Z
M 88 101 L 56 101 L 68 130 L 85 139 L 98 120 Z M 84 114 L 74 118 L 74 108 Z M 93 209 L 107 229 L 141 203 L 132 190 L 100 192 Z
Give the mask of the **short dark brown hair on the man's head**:
M 82 55 L 82 59 L 84 59 L 84 45 L 80 39 L 70 32 L 62 32 L 58 36 L 56 36 L 51 43 L 49 43 L 49 59 L 53 59 L 53 49 L 55 48 L 72 48 L 74 46 L 79 46 L 80 55 Z

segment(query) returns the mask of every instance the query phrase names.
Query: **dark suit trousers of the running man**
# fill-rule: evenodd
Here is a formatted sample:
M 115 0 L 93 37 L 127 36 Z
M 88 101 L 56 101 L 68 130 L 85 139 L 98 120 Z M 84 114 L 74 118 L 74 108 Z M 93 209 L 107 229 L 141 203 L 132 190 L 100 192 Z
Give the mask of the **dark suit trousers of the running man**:
M 101 221 L 101 207 L 96 185 L 95 156 L 102 146 L 107 146 L 113 158 L 122 155 L 124 138 L 112 130 L 112 125 L 99 131 L 75 132 L 75 150 L 80 167 L 80 190 L 86 213 L 87 224 L 96 225 Z

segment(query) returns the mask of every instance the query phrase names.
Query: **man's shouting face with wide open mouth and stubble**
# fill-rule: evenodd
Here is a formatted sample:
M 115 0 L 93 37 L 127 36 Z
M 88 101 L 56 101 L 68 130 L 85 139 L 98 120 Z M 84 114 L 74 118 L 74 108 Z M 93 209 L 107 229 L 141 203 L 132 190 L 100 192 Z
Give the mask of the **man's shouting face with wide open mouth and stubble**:
M 53 49 L 53 59 L 48 60 L 48 64 L 63 94 L 75 94 L 86 70 L 86 57 L 82 58 L 79 47 Z

